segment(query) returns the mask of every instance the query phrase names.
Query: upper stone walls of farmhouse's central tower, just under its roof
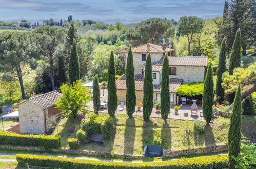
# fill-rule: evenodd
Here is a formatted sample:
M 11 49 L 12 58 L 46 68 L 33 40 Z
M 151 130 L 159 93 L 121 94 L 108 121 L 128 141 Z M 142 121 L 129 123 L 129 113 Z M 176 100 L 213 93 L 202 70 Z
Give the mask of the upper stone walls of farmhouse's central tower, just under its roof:
M 146 56 L 148 56 L 148 53 L 132 53 L 134 74 L 142 74 L 142 69 L 146 64 L 146 61 L 142 61 L 142 54 L 146 54 Z M 164 56 L 163 53 L 150 53 L 150 55 L 151 55 L 152 62 L 159 61 Z M 128 56 L 128 53 L 125 53 L 125 67 L 127 63 L 127 56 Z

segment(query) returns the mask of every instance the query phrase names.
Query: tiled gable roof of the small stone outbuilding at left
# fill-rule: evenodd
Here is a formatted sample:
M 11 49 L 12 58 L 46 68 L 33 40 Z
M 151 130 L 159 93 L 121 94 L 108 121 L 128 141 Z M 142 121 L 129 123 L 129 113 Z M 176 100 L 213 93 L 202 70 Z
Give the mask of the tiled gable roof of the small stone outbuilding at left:
M 54 100 L 60 98 L 62 94 L 57 91 L 48 92 L 39 96 L 31 97 L 25 101 L 31 101 L 40 107 L 47 109 L 55 105 Z M 23 101 L 23 102 L 25 102 Z M 23 102 L 20 102 L 16 105 L 22 104 Z

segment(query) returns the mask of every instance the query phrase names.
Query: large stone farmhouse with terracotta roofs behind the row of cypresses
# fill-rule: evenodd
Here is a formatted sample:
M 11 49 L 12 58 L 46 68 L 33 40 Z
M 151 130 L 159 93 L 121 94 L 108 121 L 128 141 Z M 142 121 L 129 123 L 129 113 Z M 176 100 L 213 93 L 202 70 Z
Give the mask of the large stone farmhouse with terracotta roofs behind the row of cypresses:
M 148 53 L 151 54 L 152 76 L 154 85 L 154 101 L 161 100 L 161 77 L 163 58 L 166 52 L 169 56 L 169 76 L 170 76 L 170 101 L 171 104 L 180 103 L 181 96 L 176 92 L 182 84 L 191 82 L 202 82 L 207 66 L 206 56 L 171 56 L 173 49 L 163 49 L 162 46 L 147 43 L 141 46 L 131 48 L 133 54 L 133 65 L 135 75 L 135 93 L 136 100 L 143 101 L 143 81 L 145 63 Z M 125 66 L 128 56 L 128 50 L 122 51 L 125 54 Z M 116 80 L 116 89 L 118 100 L 126 99 L 126 77 L 123 74 Z

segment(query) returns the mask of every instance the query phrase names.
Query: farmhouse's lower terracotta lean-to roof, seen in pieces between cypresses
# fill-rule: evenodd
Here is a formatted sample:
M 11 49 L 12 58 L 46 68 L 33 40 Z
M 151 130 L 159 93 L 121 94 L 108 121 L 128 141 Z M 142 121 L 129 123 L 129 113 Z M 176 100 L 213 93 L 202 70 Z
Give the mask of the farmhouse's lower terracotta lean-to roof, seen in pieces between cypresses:
M 135 90 L 143 91 L 143 75 L 135 75 Z M 182 79 L 170 79 L 170 92 L 175 93 L 183 83 Z M 116 89 L 117 90 L 126 90 L 126 76 L 123 74 L 119 79 L 116 80 Z M 161 85 L 154 85 L 154 92 L 161 92 Z

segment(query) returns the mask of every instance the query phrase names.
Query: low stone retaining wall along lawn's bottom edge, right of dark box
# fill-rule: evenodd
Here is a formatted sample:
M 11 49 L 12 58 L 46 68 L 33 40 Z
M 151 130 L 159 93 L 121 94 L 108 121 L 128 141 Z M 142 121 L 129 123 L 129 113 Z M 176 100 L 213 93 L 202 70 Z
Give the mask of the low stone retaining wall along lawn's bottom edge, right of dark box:
M 179 155 L 191 155 L 191 154 L 205 154 L 205 153 L 215 153 L 215 152 L 223 152 L 227 151 L 228 145 L 213 145 L 207 147 L 200 147 L 197 149 L 187 149 L 187 150 L 179 150 L 179 151 L 163 151 L 164 157 L 175 157 Z

